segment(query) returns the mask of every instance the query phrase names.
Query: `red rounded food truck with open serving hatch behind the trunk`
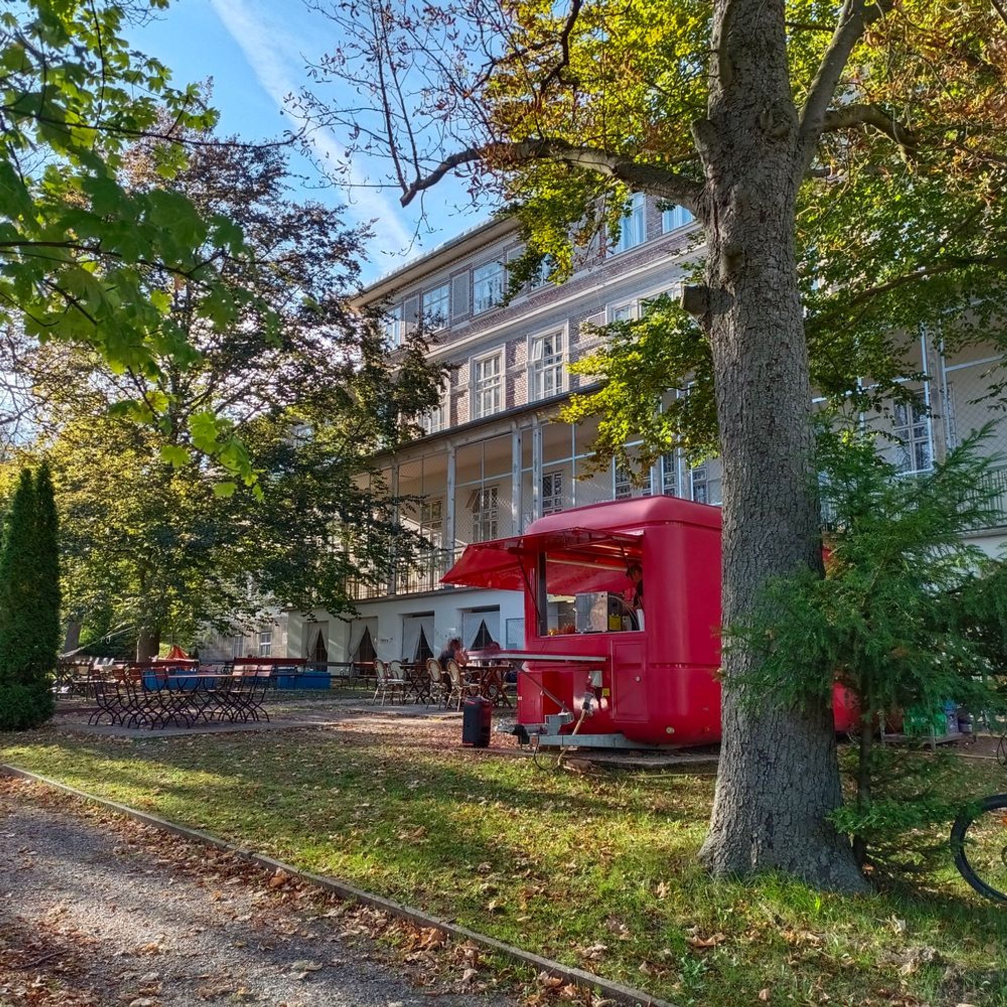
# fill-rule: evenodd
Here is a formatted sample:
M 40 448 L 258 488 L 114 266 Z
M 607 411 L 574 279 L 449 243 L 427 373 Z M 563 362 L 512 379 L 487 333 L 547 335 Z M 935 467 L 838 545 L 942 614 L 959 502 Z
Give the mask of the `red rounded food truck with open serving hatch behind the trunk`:
M 525 595 L 526 650 L 493 656 L 520 666 L 519 733 L 557 746 L 718 741 L 720 537 L 719 508 L 646 496 L 468 546 L 444 583 Z M 841 691 L 835 706 L 848 730 Z

